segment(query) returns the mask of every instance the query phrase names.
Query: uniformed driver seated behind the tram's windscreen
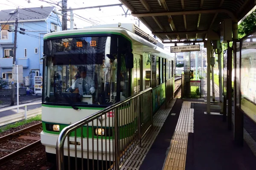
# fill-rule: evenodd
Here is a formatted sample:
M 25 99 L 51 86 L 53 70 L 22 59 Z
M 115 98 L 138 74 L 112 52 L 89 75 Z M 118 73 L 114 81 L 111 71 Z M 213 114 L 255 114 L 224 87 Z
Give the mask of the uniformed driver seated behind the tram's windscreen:
M 92 77 L 87 76 L 87 69 L 83 66 L 80 68 L 81 78 L 75 81 L 74 93 L 79 95 L 92 95 L 95 92 L 94 81 Z

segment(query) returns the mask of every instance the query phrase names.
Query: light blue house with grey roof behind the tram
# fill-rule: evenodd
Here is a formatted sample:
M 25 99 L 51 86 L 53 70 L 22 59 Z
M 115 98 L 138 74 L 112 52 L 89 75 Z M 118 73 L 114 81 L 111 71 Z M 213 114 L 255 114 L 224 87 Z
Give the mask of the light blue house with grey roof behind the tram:
M 18 18 L 16 64 L 23 66 L 23 78 L 42 75 L 43 37 L 61 31 L 55 7 L 0 11 L 0 78 L 12 78 L 15 19 Z M 21 33 L 25 34 L 21 34 Z

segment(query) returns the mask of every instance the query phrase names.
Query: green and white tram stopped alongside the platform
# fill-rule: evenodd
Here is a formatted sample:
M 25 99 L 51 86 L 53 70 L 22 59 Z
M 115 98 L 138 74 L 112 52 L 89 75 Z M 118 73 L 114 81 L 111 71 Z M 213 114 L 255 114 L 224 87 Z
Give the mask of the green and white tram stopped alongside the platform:
M 165 102 L 165 82 L 174 82 L 174 57 L 154 38 L 146 40 L 137 26 L 125 25 L 127 29 L 105 26 L 44 36 L 41 143 L 49 161 L 55 163 L 56 141 L 64 127 L 149 87 L 153 112 Z M 96 140 L 95 133 L 103 132 L 90 133 L 91 140 Z M 105 133 L 111 135 L 111 129 Z

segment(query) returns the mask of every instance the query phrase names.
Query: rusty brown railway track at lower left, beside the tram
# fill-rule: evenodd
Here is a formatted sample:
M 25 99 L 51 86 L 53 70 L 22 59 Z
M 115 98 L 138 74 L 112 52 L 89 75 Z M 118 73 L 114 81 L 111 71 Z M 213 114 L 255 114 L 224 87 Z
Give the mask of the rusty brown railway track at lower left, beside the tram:
M 41 145 L 42 123 L 0 137 L 0 166 Z M 34 131 L 38 132 L 34 132 Z

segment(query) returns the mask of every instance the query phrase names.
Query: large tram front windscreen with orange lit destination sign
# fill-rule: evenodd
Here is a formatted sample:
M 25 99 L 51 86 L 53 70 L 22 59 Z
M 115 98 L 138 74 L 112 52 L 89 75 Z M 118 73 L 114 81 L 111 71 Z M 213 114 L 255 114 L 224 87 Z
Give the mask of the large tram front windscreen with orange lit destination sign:
M 73 37 L 44 43 L 44 102 L 116 102 L 117 38 Z

